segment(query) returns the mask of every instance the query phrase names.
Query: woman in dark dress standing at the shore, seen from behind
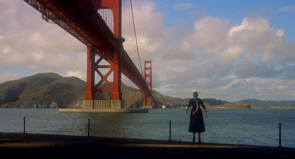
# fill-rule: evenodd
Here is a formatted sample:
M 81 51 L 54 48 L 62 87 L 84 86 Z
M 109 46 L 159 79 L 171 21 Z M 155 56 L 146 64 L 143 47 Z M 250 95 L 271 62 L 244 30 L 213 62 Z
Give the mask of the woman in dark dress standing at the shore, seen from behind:
M 189 110 L 189 107 L 192 106 L 190 120 L 189 120 L 189 132 L 193 133 L 193 142 L 195 142 L 195 134 L 197 132 L 198 139 L 199 139 L 198 142 L 201 143 L 201 132 L 205 131 L 205 124 L 204 124 L 203 113 L 200 106 L 203 107 L 206 117 L 207 117 L 207 111 L 206 111 L 203 100 L 198 98 L 198 96 L 199 96 L 199 93 L 197 91 L 194 91 L 193 92 L 194 98 L 189 100 L 189 104 L 187 105 L 185 115 L 187 115 L 187 111 Z

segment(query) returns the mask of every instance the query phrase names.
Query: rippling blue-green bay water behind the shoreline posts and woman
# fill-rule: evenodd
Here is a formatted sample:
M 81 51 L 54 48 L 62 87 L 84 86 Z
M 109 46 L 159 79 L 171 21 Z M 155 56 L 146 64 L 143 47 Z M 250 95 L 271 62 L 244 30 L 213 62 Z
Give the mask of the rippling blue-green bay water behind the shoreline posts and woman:
M 190 110 L 189 110 L 190 111 Z M 185 109 L 152 109 L 149 113 L 59 113 L 58 109 L 0 109 L 0 132 L 90 135 L 191 141 Z M 203 111 L 204 112 L 204 111 Z M 295 109 L 207 109 L 202 142 L 295 148 Z

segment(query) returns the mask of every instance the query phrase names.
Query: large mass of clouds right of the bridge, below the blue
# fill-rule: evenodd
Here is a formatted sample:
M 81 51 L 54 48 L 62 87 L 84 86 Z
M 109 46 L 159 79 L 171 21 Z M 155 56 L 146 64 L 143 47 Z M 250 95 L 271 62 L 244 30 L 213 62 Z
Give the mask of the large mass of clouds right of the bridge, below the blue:
M 137 16 L 143 19 L 149 14 L 156 18 L 137 20 L 137 24 L 142 26 L 139 34 L 145 46 L 140 50 L 153 57 L 152 65 L 157 67 L 153 69 L 153 81 L 160 83 L 155 84 L 156 90 L 184 98 L 198 87 L 207 97 L 218 99 L 234 101 L 247 92 L 251 92 L 248 98 L 266 99 L 263 92 L 253 92 L 260 81 L 293 78 L 287 75 L 293 67 L 281 62 L 295 62 L 291 53 L 294 43 L 284 42 L 284 30 L 275 29 L 267 19 L 245 17 L 241 24 L 230 26 L 227 19 L 207 16 L 196 20 L 194 32 L 176 36 L 177 27 L 164 27 L 165 14 L 152 4 L 147 6 L 149 10 L 138 9 Z M 146 27 L 146 20 L 158 30 Z M 237 93 L 238 88 L 242 92 Z

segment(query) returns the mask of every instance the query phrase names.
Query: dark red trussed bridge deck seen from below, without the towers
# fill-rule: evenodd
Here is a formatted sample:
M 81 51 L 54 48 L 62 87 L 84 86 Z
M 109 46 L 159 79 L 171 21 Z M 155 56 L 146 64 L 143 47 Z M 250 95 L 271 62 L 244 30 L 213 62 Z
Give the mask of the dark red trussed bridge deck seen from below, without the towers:
M 96 11 L 94 4 L 89 0 L 24 0 L 32 7 L 54 21 L 65 31 L 73 35 L 85 45 L 92 44 L 96 54 L 104 59 L 114 61 L 110 49 L 117 46 L 118 38 L 114 36 L 104 19 Z M 146 95 L 150 90 L 132 62 L 128 54 L 122 49 L 122 73 L 128 77 Z

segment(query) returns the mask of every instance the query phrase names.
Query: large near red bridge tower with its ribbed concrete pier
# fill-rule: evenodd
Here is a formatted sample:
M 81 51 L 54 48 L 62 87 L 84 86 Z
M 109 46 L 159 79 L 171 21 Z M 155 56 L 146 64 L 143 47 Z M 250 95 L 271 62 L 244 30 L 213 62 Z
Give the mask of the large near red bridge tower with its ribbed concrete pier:
M 117 47 L 110 47 L 108 52 L 103 52 L 100 58 L 95 61 L 95 48 L 91 44 L 87 46 L 87 86 L 85 93 L 85 100 L 83 101 L 83 109 L 94 109 L 94 108 L 113 108 L 120 109 L 124 108 L 121 103 L 121 51 L 123 49 L 122 42 L 124 39 L 121 38 L 122 32 L 122 1 L 121 0 L 92 0 L 95 4 L 95 9 L 111 9 L 114 18 L 114 35 L 118 38 Z M 98 50 L 99 51 L 99 50 Z M 112 54 L 113 60 L 104 58 L 104 54 Z M 102 59 L 106 59 L 110 65 L 99 65 Z M 103 75 L 99 68 L 109 68 L 109 71 Z M 101 80 L 95 84 L 94 77 L 95 72 L 99 74 Z M 107 80 L 107 77 L 113 72 L 113 85 Z M 103 83 L 109 86 L 109 89 L 98 89 Z M 111 92 L 112 100 L 110 102 L 104 101 L 93 101 L 94 96 L 97 92 Z M 92 106 L 92 107 L 91 107 Z

